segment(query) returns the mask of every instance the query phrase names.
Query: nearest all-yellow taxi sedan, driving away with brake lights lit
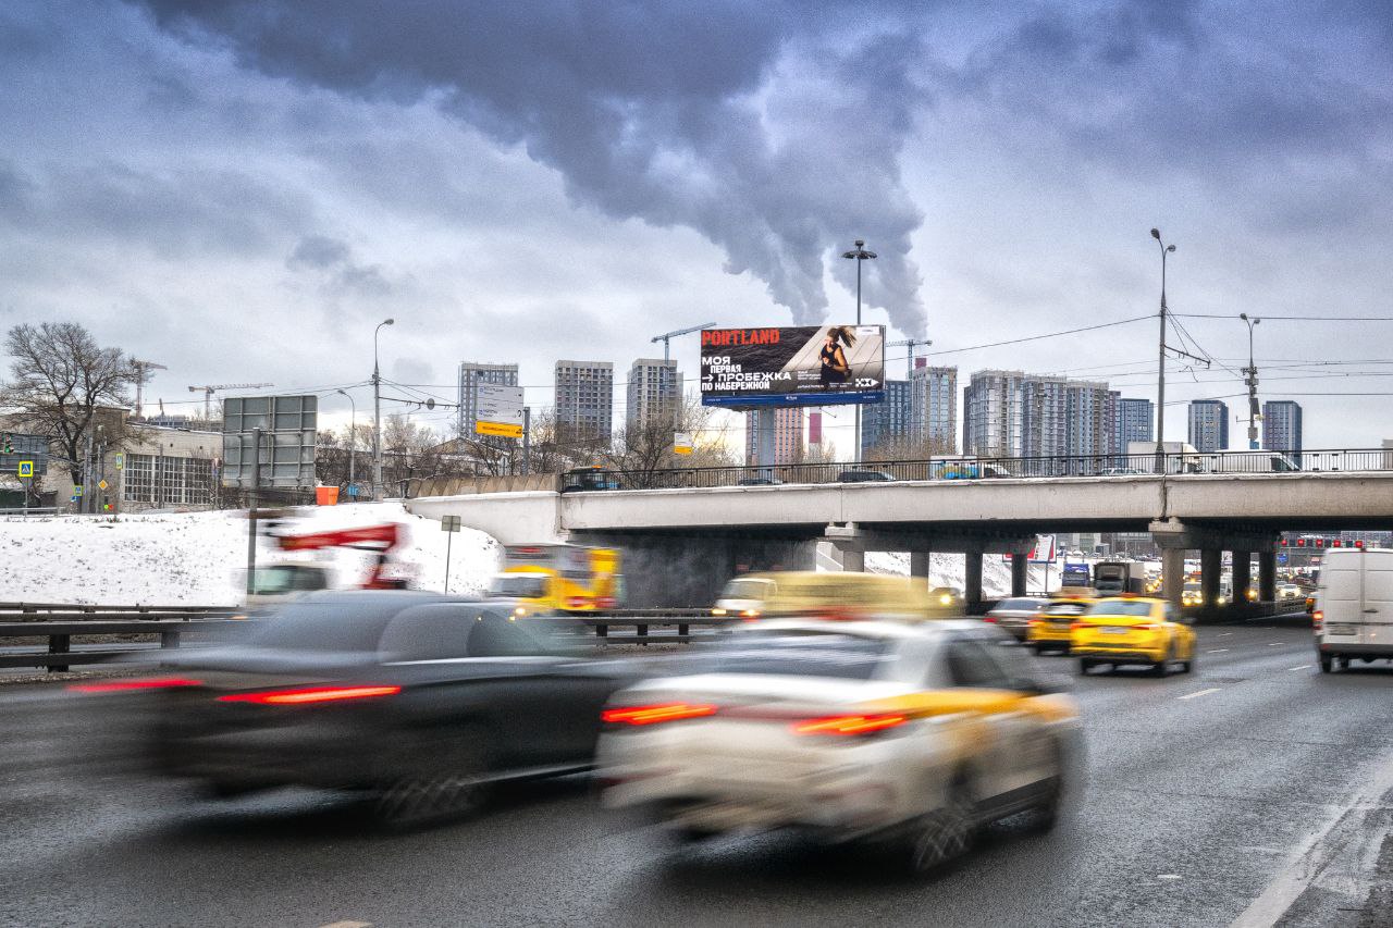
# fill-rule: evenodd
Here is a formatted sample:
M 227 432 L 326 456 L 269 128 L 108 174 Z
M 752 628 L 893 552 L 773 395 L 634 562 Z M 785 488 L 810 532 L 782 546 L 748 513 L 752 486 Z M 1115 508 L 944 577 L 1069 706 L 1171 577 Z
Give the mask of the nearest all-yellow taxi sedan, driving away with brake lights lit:
M 1100 663 L 1113 669 L 1144 663 L 1158 677 L 1173 663 L 1184 673 L 1195 669 L 1195 630 L 1165 599 L 1099 599 L 1073 621 L 1070 649 L 1082 673 Z

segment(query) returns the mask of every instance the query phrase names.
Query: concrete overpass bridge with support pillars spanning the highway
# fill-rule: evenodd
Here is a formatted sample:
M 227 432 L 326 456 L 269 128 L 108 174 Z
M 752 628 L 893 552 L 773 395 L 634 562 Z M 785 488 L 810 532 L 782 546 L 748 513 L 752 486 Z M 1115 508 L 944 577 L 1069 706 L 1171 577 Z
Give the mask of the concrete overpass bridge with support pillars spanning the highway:
M 504 543 L 621 545 L 631 589 L 645 598 L 703 602 L 740 570 L 812 569 L 815 543 L 826 541 L 847 570 L 868 550 L 898 550 L 926 575 L 929 552 L 961 552 L 971 606 L 981 602 L 983 553 L 1024 553 L 1042 532 L 1149 531 L 1163 550 L 1165 595 L 1178 602 L 1185 552 L 1198 550 L 1212 602 L 1223 550 L 1234 552 L 1234 589 L 1248 587 L 1256 555 L 1259 592 L 1270 599 L 1279 532 L 1393 528 L 1393 470 L 472 493 L 408 506 L 457 514 Z M 642 591 L 649 573 L 664 577 L 662 589 Z M 1014 559 L 1013 588 L 1025 591 L 1024 557 Z

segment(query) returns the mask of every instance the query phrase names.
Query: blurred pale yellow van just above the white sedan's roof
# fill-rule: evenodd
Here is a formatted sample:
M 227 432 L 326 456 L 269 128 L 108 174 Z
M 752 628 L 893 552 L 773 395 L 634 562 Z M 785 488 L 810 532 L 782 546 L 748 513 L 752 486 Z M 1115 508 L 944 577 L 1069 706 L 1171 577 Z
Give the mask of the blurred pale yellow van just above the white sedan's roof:
M 758 601 L 751 596 L 758 596 Z M 738 603 L 738 608 L 729 609 L 727 603 Z M 748 619 L 940 619 L 961 616 L 963 601 L 931 596 L 924 577 L 809 570 L 736 577 L 722 592 L 713 612 Z

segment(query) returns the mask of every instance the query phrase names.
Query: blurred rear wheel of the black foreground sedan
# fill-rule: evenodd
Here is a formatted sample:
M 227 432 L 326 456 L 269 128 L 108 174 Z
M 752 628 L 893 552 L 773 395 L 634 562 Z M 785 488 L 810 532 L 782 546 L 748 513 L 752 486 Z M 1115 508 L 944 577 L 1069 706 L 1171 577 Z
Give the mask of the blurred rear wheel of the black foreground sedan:
M 423 750 L 432 752 L 415 757 L 436 758 L 430 766 L 400 776 L 379 790 L 372 812 L 380 823 L 414 828 L 467 815 L 483 805 L 488 752 L 478 733 L 460 736 L 449 747 L 433 743 Z

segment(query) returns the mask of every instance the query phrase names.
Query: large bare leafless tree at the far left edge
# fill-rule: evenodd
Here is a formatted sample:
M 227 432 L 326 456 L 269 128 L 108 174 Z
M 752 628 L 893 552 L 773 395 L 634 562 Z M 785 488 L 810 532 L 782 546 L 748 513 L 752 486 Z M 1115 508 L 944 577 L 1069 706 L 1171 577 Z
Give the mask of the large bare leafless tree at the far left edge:
M 82 482 L 89 440 L 118 446 L 131 431 L 125 417 L 103 408 L 130 408 L 130 387 L 139 376 L 120 348 L 98 346 L 75 322 L 20 325 L 6 334 L 13 358 L 10 380 L 0 385 L 0 408 L 11 410 L 15 429 L 43 435 L 61 451 L 74 484 Z M 100 419 L 100 422 L 98 421 Z

